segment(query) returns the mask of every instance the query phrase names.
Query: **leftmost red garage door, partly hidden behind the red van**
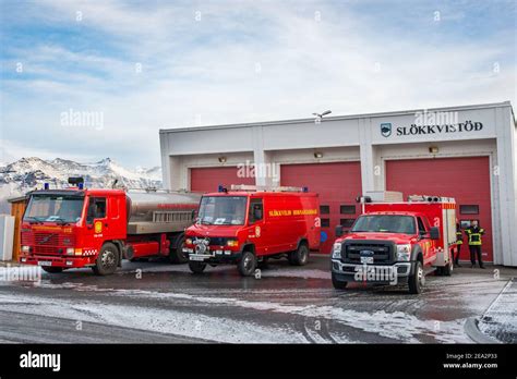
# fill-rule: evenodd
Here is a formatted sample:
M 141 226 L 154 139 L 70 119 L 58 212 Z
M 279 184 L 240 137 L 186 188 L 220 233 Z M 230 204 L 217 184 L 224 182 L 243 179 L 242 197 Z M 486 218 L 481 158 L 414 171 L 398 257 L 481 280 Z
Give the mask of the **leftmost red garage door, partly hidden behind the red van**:
M 195 192 L 217 192 L 219 184 L 255 184 L 254 178 L 239 178 L 237 167 L 190 169 L 190 188 Z

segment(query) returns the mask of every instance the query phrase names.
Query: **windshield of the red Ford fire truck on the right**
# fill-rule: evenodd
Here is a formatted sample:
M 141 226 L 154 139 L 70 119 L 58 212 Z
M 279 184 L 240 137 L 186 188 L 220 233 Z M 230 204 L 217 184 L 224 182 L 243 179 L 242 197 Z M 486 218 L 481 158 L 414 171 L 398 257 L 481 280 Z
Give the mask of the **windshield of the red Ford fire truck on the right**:
M 351 230 L 352 232 L 378 232 L 416 234 L 414 218 L 397 215 L 361 216 Z

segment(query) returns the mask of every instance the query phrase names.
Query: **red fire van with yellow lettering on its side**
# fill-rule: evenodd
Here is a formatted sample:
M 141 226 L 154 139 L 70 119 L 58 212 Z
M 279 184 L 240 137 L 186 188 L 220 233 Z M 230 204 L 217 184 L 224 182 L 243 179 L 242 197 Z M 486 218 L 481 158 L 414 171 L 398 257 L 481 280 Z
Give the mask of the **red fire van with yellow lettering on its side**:
M 185 232 L 184 252 L 192 272 L 207 265 L 238 265 L 252 276 L 258 264 L 287 256 L 305 265 L 320 247 L 320 203 L 306 188 L 233 185 L 203 195 L 199 218 Z

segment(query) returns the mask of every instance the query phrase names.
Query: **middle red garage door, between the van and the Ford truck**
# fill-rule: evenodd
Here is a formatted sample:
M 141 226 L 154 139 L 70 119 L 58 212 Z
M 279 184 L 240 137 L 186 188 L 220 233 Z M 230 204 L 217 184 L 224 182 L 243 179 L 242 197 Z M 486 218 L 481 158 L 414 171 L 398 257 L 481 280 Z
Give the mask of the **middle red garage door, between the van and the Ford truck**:
M 281 185 L 308 186 L 320 194 L 322 218 L 321 252 L 330 253 L 336 225 L 348 228 L 356 220 L 360 207 L 356 197 L 361 194 L 360 162 L 281 164 Z

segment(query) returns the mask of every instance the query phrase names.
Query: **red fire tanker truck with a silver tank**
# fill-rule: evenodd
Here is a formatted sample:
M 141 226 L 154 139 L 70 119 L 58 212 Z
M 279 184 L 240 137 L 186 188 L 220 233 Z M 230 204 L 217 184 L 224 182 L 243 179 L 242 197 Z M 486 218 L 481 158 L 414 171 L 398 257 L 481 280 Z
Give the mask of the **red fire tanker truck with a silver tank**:
M 92 267 L 115 272 L 123 258 L 166 256 L 187 262 L 184 229 L 192 224 L 201 195 L 128 193 L 77 187 L 34 191 L 21 225 L 20 262 L 47 272 Z

